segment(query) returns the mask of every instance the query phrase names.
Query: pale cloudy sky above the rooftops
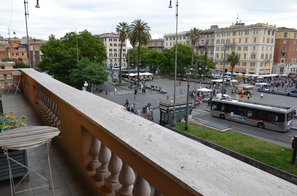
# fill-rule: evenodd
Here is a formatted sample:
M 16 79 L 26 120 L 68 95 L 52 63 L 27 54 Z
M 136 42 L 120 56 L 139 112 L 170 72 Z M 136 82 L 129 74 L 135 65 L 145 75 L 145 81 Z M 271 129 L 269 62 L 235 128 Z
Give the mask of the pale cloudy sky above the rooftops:
M 276 24 L 297 28 L 297 1 L 287 0 L 280 4 L 276 0 L 180 0 L 178 2 L 178 32 L 197 27 L 208 29 L 210 25 L 227 27 L 236 22 L 238 15 L 246 25 L 255 23 Z M 141 18 L 151 27 L 152 38 L 162 38 L 164 33 L 175 33 L 175 1 L 169 9 L 169 0 L 28 0 L 29 36 L 48 39 L 57 38 L 66 32 L 87 29 L 93 34 L 115 32 L 119 22 L 131 23 Z M 24 3 L 22 0 L 0 0 L 0 34 L 15 30 L 17 37 L 26 36 Z M 13 32 L 11 32 L 13 33 Z M 128 44 L 129 46 L 129 44 Z

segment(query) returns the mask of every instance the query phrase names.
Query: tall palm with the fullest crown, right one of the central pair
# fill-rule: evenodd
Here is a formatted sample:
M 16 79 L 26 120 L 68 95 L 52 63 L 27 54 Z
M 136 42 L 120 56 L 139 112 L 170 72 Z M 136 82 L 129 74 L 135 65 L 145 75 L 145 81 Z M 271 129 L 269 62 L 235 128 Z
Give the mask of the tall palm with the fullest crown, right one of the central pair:
M 151 40 L 151 34 L 149 31 L 151 28 L 148 26 L 148 23 L 145 23 L 141 19 L 134 20 L 130 25 L 130 32 L 128 34 L 128 39 L 130 44 L 135 47 L 138 45 L 138 59 L 140 56 L 140 46 L 145 46 Z M 137 65 L 137 85 L 139 85 L 139 64 L 138 60 L 136 60 Z

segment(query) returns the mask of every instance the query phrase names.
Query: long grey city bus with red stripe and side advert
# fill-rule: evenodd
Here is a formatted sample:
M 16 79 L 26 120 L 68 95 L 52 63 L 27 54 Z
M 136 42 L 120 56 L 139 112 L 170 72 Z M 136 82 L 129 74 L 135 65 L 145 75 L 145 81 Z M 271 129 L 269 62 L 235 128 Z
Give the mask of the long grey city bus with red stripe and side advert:
M 230 98 L 213 99 L 210 114 L 221 119 L 266 128 L 287 131 L 292 127 L 293 108 L 268 105 Z

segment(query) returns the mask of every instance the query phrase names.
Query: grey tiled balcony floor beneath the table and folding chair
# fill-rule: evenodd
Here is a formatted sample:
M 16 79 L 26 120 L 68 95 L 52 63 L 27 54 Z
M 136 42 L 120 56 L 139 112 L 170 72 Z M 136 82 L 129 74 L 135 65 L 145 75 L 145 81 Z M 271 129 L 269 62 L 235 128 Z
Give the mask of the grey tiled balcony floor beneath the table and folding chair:
M 21 119 L 22 115 L 27 116 L 25 123 L 27 126 L 40 126 L 44 125 L 40 120 L 38 114 L 35 112 L 34 108 L 27 101 L 26 97 L 22 93 L 8 94 L 7 91 L 2 93 L 2 103 L 4 113 L 9 111 L 14 111 L 14 116 Z M 47 156 L 44 155 L 37 163 L 38 158 L 42 156 L 45 152 L 46 146 L 42 145 L 36 148 L 31 148 L 27 150 L 28 165 L 35 171 L 38 171 L 42 176 L 48 178 L 48 160 Z M 71 167 L 70 163 L 67 161 L 66 157 L 60 151 L 59 147 L 55 142 L 51 142 L 50 145 L 50 167 L 53 177 L 53 187 L 55 196 L 87 196 L 89 193 L 83 186 L 83 183 L 79 180 L 75 171 Z M 34 165 L 34 163 L 36 163 Z M 15 184 L 19 182 L 21 177 L 14 178 Z M 31 171 L 29 173 L 29 182 L 24 179 L 20 185 L 17 187 L 16 191 L 31 189 L 39 186 L 44 186 L 48 184 L 42 177 L 38 176 L 36 173 Z M 0 196 L 11 195 L 10 180 L 0 181 Z M 39 189 L 34 189 L 26 192 L 17 193 L 16 196 L 21 195 L 35 195 L 35 196 L 51 196 L 52 191 L 49 187 L 42 187 Z

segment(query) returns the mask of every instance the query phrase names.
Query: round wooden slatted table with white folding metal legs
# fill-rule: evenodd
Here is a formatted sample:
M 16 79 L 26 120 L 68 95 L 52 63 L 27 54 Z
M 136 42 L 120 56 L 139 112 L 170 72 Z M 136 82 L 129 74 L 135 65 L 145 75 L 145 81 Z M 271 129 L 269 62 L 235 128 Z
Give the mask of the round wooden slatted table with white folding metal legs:
M 4 154 L 6 154 L 7 161 L 8 161 L 8 166 L 9 166 L 9 171 L 10 171 L 10 185 L 11 185 L 11 194 L 15 195 L 15 193 L 18 193 L 15 191 L 15 188 L 20 184 L 20 182 L 28 175 L 29 171 L 32 170 L 28 168 L 27 166 L 24 166 L 23 164 L 19 163 L 18 161 L 10 158 L 8 156 L 8 149 L 12 150 L 24 150 L 24 149 L 29 149 L 29 148 L 35 148 L 38 147 L 42 144 L 46 144 L 47 150 L 45 153 L 48 154 L 48 166 L 49 166 L 49 173 L 50 173 L 50 180 L 46 179 L 45 177 L 41 176 L 39 173 L 37 173 L 39 176 L 44 178 L 49 182 L 50 188 L 53 188 L 53 180 L 52 180 L 52 175 L 51 175 L 51 170 L 50 170 L 50 161 L 49 161 L 49 147 L 50 147 L 50 142 L 51 139 L 59 135 L 60 130 L 56 127 L 50 127 L 50 126 L 31 126 L 31 127 L 22 127 L 22 128 L 16 128 L 16 129 L 11 129 L 8 131 L 4 131 L 0 133 L 0 147 L 4 150 Z M 45 153 L 43 155 L 45 155 Z M 41 159 L 43 155 L 39 158 Z M 36 161 L 36 163 L 39 161 L 39 159 Z M 11 172 L 11 167 L 10 167 L 10 161 L 12 160 L 15 163 L 18 163 L 19 165 L 25 167 L 28 169 L 28 172 L 26 175 L 20 180 L 20 182 L 14 186 L 14 182 L 12 179 L 12 172 Z M 35 165 L 35 164 L 34 164 Z M 51 183 L 50 183 L 51 182 Z M 45 187 L 42 186 L 42 187 Z M 41 188 L 41 187 L 37 187 Z M 34 188 L 36 189 L 36 188 Z M 32 190 L 32 189 L 28 189 Z M 27 191 L 27 190 L 25 190 Z M 23 191 L 19 191 L 23 192 Z M 55 195 L 53 191 L 53 195 Z

